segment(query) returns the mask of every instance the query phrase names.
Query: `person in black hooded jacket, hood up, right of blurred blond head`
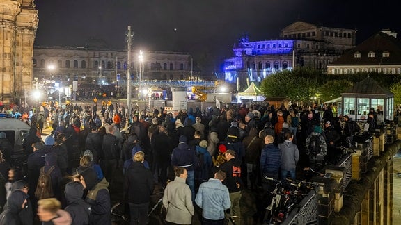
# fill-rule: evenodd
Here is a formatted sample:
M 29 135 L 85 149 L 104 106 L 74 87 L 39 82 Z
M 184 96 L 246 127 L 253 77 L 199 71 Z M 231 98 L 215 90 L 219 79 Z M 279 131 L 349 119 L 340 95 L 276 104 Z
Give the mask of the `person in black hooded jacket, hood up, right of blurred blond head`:
M 70 213 L 72 224 L 86 225 L 89 224 L 89 216 L 91 215 L 91 205 L 86 203 L 82 196 L 84 195 L 84 186 L 77 182 L 72 181 L 65 185 L 65 199 L 68 206 L 65 211 Z

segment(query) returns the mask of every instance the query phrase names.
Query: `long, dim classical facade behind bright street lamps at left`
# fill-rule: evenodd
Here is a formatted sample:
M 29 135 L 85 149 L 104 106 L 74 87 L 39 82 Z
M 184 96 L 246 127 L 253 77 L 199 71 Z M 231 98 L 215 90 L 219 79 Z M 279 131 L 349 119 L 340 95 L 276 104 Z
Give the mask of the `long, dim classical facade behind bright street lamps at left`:
M 151 80 L 187 80 L 190 76 L 189 53 L 131 51 L 130 74 L 133 82 Z M 95 47 L 34 47 L 33 77 L 41 81 L 71 85 L 99 85 L 127 82 L 127 51 Z

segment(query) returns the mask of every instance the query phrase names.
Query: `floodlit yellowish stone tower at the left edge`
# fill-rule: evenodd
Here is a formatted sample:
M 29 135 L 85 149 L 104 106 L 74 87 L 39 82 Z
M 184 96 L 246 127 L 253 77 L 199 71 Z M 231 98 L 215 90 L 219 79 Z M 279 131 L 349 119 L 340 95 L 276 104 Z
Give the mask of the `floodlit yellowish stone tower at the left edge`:
M 32 88 L 38 10 L 33 0 L 0 0 L 0 101 L 8 104 Z

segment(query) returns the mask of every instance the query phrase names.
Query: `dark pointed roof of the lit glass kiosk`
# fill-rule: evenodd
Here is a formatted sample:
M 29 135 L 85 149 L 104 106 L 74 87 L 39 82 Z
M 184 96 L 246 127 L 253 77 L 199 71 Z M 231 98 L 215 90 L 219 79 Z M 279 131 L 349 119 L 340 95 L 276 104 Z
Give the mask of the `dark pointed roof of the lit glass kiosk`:
M 386 88 L 380 87 L 379 83 L 375 81 L 373 78 L 368 76 L 367 78 L 355 83 L 352 88 L 349 88 L 343 94 L 376 94 L 376 95 L 393 95 L 393 92 L 387 90 Z

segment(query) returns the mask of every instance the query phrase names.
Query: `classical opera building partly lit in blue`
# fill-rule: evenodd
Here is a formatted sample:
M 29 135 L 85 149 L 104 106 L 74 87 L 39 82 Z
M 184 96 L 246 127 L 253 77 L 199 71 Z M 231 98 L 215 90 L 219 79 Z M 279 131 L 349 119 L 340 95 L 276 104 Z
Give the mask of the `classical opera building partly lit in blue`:
M 294 67 L 326 71 L 333 60 L 355 47 L 355 40 L 356 30 L 306 22 L 283 28 L 278 40 L 249 42 L 242 38 L 233 47 L 233 57 L 225 60 L 226 81 L 258 82 L 269 74 Z

